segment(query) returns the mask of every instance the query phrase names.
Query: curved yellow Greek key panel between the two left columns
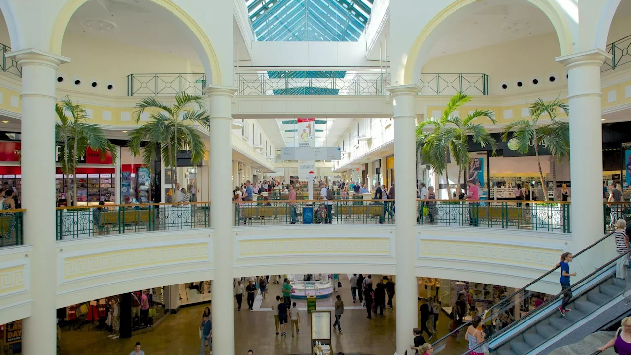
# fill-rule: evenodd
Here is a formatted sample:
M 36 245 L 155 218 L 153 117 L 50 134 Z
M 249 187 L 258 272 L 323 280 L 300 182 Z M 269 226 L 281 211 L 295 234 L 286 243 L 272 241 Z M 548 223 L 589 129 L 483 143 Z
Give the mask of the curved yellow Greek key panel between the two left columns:
M 114 272 L 209 262 L 209 243 L 156 245 L 126 250 L 87 251 L 90 254 L 59 255 L 62 280 L 74 281 Z M 63 283 L 63 282 L 62 282 Z

